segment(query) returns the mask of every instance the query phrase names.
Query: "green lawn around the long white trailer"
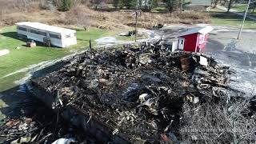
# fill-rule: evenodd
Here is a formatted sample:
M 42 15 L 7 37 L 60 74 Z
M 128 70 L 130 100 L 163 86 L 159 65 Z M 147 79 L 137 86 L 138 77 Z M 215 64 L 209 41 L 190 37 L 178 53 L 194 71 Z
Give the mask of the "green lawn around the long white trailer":
M 10 54 L 0 57 L 0 91 L 15 86 L 14 82 L 25 75 L 24 73 L 18 73 L 2 78 L 7 74 L 14 73 L 17 70 L 38 64 L 39 62 L 62 58 L 68 54 L 72 54 L 76 50 L 85 50 L 89 46 L 90 39 L 94 41 L 94 39 L 118 33 L 118 31 L 100 30 L 96 28 L 91 28 L 87 31 L 77 30 L 78 44 L 61 49 L 45 46 L 27 48 L 25 46 L 26 39 L 18 38 L 15 31 L 15 26 L 0 28 L 0 50 L 10 50 Z

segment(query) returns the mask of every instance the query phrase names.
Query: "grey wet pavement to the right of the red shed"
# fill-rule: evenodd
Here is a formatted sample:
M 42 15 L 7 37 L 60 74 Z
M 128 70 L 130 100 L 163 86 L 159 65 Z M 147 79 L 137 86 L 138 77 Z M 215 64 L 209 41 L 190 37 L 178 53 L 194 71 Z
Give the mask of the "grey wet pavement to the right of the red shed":
M 252 35 L 255 30 L 245 30 L 239 41 L 237 29 L 215 27 L 207 43 L 206 53 L 218 62 L 236 71 L 230 86 L 246 94 L 256 94 L 256 42 Z

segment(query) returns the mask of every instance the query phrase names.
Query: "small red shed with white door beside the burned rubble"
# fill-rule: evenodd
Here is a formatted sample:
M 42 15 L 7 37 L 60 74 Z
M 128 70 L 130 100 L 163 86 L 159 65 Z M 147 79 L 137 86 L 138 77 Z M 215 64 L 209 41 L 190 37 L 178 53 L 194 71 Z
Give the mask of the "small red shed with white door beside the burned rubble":
M 212 26 L 194 27 L 178 36 L 178 49 L 200 52 L 206 47 L 208 33 L 214 30 Z

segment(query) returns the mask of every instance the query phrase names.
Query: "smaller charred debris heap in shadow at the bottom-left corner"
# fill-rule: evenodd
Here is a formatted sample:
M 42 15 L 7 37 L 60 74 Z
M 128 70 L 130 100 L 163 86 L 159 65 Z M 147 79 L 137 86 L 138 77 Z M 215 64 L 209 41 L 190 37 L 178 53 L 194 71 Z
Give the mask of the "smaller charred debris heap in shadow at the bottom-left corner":
M 0 143 L 56 143 L 74 138 L 95 142 L 33 97 L 19 103 L 0 123 Z

